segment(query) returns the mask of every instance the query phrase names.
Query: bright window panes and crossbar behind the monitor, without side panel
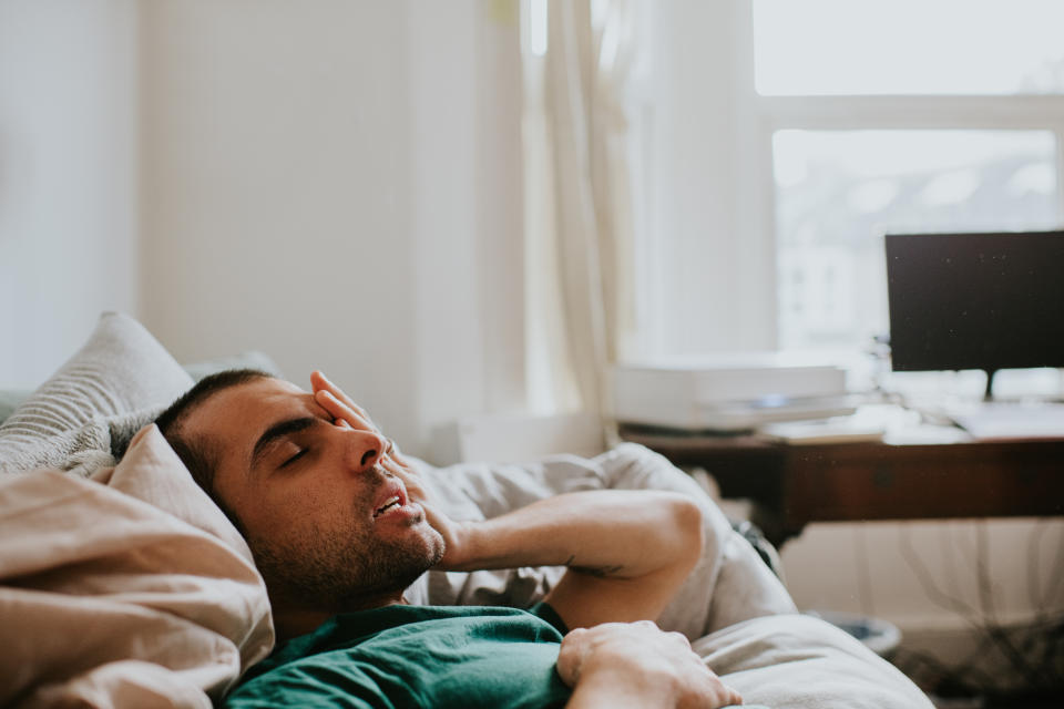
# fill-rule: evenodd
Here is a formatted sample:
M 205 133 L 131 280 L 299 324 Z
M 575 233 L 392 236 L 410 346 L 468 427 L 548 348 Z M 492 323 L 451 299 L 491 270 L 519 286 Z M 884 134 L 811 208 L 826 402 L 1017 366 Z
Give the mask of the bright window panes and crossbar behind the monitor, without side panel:
M 1060 226 L 1058 27 L 1054 0 L 755 0 L 781 348 L 887 332 L 888 232 Z

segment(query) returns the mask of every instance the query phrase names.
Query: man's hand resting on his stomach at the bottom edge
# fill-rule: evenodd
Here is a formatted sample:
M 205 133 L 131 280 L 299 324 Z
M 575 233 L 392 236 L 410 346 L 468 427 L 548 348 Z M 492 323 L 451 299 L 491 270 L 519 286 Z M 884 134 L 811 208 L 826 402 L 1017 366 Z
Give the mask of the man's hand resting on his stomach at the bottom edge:
M 562 640 L 557 674 L 583 707 L 718 709 L 743 703 L 678 633 L 649 620 L 605 623 Z

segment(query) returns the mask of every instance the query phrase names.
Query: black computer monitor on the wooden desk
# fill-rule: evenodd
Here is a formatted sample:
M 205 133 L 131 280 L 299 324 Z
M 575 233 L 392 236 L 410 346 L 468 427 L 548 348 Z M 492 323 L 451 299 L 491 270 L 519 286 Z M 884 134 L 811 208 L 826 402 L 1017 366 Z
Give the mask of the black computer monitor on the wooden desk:
M 1064 232 L 886 242 L 894 371 L 1064 367 Z

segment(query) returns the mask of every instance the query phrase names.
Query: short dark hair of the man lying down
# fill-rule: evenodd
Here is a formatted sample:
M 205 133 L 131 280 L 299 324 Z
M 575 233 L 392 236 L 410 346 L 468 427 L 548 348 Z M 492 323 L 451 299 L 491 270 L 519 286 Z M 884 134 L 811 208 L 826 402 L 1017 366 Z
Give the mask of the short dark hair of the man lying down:
M 214 394 L 231 387 L 237 387 L 257 379 L 275 379 L 275 377 L 257 369 L 226 369 L 221 372 L 215 372 L 214 374 L 208 374 L 196 382 L 192 389 L 183 393 L 155 419 L 155 425 L 158 427 L 163 438 L 166 439 L 170 446 L 177 453 L 181 462 L 184 463 L 188 472 L 192 473 L 192 479 L 214 500 L 215 504 L 222 508 L 237 528 L 242 528 L 239 520 L 225 503 L 218 499 L 214 490 L 214 473 L 218 458 L 217 451 L 202 438 L 188 436 L 183 428 L 188 415 Z

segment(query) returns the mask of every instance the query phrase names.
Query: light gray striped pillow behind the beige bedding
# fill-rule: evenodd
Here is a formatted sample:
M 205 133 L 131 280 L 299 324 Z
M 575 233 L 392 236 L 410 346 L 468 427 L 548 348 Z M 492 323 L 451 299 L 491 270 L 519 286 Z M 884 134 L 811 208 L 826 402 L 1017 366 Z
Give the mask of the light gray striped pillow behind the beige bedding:
M 0 425 L 0 473 L 113 464 L 133 434 L 192 387 L 136 320 L 104 312 L 85 345 Z

